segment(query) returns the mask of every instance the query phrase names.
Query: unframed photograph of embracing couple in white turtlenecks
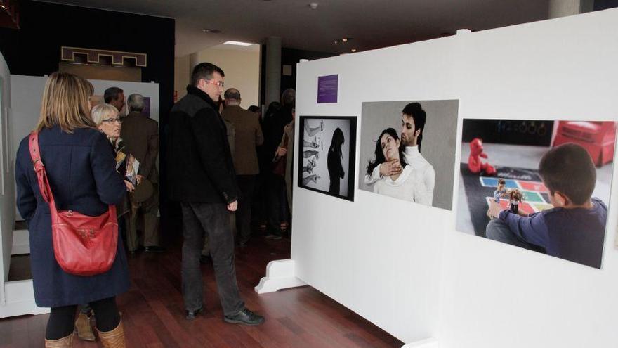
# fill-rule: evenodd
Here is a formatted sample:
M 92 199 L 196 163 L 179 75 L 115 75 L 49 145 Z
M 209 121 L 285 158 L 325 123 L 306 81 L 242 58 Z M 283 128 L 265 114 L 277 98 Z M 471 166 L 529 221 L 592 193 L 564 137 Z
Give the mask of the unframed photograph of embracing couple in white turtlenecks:
M 458 101 L 362 103 L 359 188 L 452 209 Z

